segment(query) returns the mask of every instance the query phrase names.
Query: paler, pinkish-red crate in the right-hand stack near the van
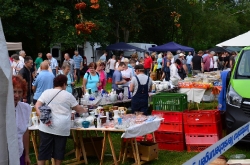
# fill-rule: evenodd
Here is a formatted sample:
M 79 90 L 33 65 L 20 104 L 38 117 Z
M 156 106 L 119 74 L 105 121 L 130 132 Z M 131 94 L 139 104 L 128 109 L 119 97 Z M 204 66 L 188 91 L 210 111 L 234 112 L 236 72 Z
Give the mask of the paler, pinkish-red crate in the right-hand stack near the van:
M 214 144 L 219 140 L 216 134 L 186 134 L 186 144 Z

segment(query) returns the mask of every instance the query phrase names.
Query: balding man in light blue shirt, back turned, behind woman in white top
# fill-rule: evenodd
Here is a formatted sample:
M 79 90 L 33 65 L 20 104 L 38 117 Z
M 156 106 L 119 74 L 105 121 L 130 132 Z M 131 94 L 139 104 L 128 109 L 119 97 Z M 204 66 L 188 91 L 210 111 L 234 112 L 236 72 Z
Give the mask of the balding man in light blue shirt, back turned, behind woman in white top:
M 54 74 L 49 72 L 49 66 L 47 62 L 42 62 L 40 65 L 41 71 L 37 74 L 32 83 L 32 89 L 34 91 L 33 104 L 35 105 L 41 94 L 46 89 L 53 88 Z

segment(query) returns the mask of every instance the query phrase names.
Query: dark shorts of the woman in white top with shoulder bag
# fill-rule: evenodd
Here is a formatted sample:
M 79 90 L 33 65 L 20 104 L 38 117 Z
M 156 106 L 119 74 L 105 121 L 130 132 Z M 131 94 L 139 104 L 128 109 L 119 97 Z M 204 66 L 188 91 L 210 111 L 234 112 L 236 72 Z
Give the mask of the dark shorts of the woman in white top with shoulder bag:
M 67 136 L 53 135 L 39 131 L 40 146 L 38 160 L 63 160 L 66 148 Z

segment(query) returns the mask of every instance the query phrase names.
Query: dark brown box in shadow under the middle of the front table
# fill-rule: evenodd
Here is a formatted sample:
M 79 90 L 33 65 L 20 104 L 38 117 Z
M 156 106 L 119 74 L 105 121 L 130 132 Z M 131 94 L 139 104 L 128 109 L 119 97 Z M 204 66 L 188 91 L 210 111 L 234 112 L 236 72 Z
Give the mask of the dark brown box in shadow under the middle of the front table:
M 92 137 L 97 154 L 102 154 L 103 137 Z M 97 156 L 90 138 L 83 138 L 83 145 L 87 156 Z

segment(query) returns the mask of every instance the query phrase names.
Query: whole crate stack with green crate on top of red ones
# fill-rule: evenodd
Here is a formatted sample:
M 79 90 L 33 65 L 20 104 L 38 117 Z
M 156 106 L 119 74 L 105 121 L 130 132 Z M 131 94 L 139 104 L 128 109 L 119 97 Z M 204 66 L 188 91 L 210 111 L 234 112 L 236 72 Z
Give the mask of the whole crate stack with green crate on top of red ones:
M 152 115 L 164 118 L 155 139 L 159 149 L 183 151 L 185 138 L 183 128 L 183 110 L 187 109 L 187 95 L 180 93 L 160 93 L 153 96 Z M 176 112 L 177 111 L 177 112 Z

